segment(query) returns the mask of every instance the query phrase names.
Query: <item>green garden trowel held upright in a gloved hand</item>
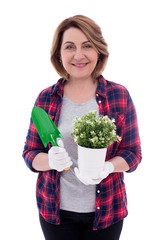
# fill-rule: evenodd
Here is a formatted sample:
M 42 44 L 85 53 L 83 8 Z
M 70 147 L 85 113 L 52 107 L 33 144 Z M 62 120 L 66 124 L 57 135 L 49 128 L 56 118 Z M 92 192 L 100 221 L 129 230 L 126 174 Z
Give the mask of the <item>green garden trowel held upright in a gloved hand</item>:
M 44 147 L 51 142 L 53 146 L 58 146 L 56 139 L 63 138 L 62 134 L 49 117 L 49 115 L 40 107 L 33 107 L 32 119 L 43 142 Z M 68 170 L 66 168 L 65 170 Z

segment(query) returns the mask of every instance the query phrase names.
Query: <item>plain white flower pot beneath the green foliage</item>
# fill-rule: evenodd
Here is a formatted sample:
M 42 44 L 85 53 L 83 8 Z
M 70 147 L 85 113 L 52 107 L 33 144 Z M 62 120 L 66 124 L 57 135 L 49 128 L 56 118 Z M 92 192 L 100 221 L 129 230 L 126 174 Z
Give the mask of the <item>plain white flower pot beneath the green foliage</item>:
M 78 145 L 78 170 L 81 176 L 98 179 L 103 171 L 107 148 L 85 148 Z

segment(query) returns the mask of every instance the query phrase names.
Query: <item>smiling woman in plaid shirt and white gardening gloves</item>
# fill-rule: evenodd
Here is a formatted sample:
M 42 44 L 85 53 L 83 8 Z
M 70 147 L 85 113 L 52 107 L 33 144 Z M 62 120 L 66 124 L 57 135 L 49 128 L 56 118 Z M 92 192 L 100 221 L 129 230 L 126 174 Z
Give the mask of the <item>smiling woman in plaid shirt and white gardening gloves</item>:
M 43 90 L 35 105 L 50 115 L 63 142 L 45 149 L 31 120 L 23 152 L 27 166 L 39 172 L 36 196 L 47 240 L 117 240 L 127 216 L 123 172 L 134 171 L 140 163 L 140 138 L 127 89 L 101 75 L 108 56 L 101 29 L 91 19 L 76 15 L 58 26 L 51 62 L 62 78 Z M 81 182 L 74 173 L 72 121 L 90 110 L 114 118 L 122 140 L 108 147 L 105 177 Z

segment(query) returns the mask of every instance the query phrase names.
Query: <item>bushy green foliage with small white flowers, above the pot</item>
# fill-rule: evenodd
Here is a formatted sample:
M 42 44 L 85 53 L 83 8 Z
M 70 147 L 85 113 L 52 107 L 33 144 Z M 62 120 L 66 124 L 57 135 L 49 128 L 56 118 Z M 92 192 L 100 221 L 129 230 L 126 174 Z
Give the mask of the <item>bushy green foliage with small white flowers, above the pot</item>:
M 90 111 L 81 118 L 76 117 L 72 136 L 77 144 L 84 147 L 106 147 L 114 141 L 121 140 L 116 134 L 114 122 L 115 119 L 110 119 L 107 115 L 98 117 L 95 110 Z

